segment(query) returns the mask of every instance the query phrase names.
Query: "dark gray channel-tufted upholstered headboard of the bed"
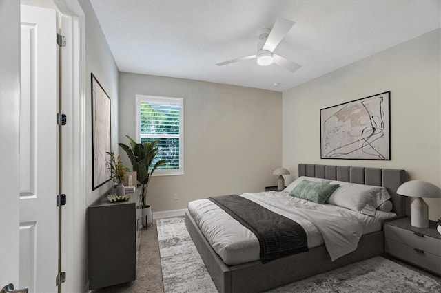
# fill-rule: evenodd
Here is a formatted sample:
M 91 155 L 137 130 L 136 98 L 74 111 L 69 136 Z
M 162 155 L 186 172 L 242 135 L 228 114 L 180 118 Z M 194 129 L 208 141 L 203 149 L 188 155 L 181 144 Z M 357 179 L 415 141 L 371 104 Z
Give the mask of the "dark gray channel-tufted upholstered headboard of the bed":
M 298 164 L 298 176 L 384 186 L 391 195 L 393 202 L 392 211 L 397 215 L 406 214 L 406 199 L 396 193 L 398 186 L 406 181 L 406 171 L 404 170 Z

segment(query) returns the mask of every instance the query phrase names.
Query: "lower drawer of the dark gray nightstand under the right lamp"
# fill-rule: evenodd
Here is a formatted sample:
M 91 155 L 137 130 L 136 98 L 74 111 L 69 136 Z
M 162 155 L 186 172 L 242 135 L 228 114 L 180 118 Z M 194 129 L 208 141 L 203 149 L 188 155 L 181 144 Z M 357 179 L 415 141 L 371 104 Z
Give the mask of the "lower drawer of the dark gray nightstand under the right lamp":
M 384 250 L 399 259 L 409 261 L 435 274 L 441 274 L 441 257 L 434 254 L 426 251 L 418 252 L 411 246 L 387 238 L 384 241 Z

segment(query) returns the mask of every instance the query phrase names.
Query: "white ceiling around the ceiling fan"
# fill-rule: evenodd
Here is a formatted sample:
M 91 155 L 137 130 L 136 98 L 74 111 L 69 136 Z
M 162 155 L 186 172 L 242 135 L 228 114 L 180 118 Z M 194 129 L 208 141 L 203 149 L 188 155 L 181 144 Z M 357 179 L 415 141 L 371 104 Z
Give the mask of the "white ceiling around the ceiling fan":
M 284 91 L 440 27 L 440 0 L 91 0 L 121 72 Z M 289 72 L 255 60 L 260 28 L 295 21 L 274 53 Z M 278 84 L 278 85 L 274 85 Z

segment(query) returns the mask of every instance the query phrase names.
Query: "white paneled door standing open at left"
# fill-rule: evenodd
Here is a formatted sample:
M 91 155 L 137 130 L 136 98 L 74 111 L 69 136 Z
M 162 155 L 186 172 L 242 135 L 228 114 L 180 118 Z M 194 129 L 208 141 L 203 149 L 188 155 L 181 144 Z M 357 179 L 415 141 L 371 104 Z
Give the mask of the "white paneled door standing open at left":
M 56 12 L 21 6 L 19 284 L 56 292 L 58 273 Z M 15 284 L 14 284 L 15 285 Z

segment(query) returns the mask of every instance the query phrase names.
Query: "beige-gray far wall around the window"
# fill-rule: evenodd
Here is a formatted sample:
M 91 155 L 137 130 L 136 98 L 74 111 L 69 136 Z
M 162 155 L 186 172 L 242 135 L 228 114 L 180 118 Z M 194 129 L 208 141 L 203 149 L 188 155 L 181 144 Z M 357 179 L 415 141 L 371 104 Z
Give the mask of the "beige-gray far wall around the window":
M 154 212 L 276 184 L 272 171 L 282 158 L 280 92 L 120 72 L 119 141 L 125 144 L 125 135 L 136 138 L 136 94 L 184 99 L 184 175 L 153 177 L 147 204 Z M 130 166 L 126 155 L 121 157 Z

